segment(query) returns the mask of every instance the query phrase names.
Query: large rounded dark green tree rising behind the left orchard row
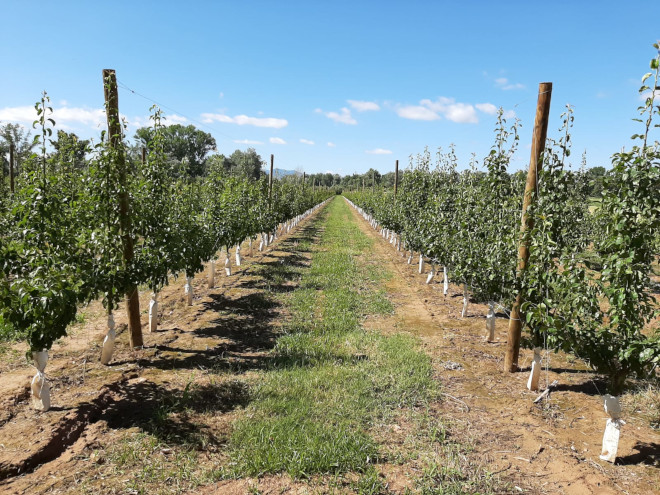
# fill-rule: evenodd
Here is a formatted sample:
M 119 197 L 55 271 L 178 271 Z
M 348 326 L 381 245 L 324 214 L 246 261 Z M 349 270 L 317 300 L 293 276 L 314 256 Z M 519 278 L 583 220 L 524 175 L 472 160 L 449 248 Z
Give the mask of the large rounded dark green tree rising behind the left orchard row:
M 183 165 L 182 175 L 205 175 L 207 155 L 216 149 L 213 136 L 193 125 L 174 124 L 163 129 L 163 138 L 165 153 Z M 135 139 L 150 151 L 154 141 L 153 128 L 139 128 L 135 132 Z

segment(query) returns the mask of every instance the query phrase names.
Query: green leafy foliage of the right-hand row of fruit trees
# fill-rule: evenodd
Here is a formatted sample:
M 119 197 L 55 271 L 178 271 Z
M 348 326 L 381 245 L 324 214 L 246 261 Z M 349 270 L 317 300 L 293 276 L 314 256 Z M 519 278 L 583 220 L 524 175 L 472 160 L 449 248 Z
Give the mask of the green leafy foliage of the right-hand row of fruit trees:
M 610 171 L 588 170 L 584 157 L 579 170 L 568 168 L 572 109 L 562 115 L 561 137 L 548 140 L 528 210 L 530 258 L 520 277 L 524 176 L 507 172 L 517 126 L 508 128 L 501 112 L 485 172 L 474 159 L 459 172 L 453 150 L 439 152 L 430 170 L 425 151 L 404 174 L 396 202 L 388 191 L 347 196 L 399 232 L 408 249 L 449 266 L 478 300 L 506 307 L 521 291 L 530 343 L 585 359 L 619 394 L 627 377 L 646 376 L 660 363 L 660 331 L 650 327 L 657 316 L 650 274 L 660 247 L 660 144 L 650 144 L 659 127 L 658 60 L 640 88 L 642 118 L 635 120 L 643 129 L 632 137 L 639 144 L 615 154 Z M 600 198 L 591 203 L 596 190 Z

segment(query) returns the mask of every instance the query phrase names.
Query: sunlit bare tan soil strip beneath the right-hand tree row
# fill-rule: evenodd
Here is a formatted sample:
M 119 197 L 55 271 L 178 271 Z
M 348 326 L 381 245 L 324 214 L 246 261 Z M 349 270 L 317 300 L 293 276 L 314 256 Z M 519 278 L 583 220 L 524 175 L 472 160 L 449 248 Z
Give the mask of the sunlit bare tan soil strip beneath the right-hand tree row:
M 546 405 L 534 405 L 538 393 L 527 391 L 528 373 L 502 371 L 508 320 L 497 319 L 498 341 L 487 343 L 487 306 L 470 303 L 468 317 L 461 318 L 462 289 L 450 284 L 444 297 L 441 275 L 426 285 L 428 268 L 418 274 L 417 265 L 408 265 L 407 256 L 351 210 L 363 232 L 374 239 L 371 263 L 393 274 L 385 286 L 396 308 L 394 316 L 367 321 L 365 327 L 391 328 L 422 339 L 443 393 L 433 413 L 439 421 L 449 420 L 454 437 L 474 444 L 469 455 L 475 463 L 524 493 L 660 493 L 658 466 L 653 466 L 658 432 L 630 418 L 619 444 L 619 456 L 628 464 L 600 461 L 606 415 L 592 390 L 595 375 L 564 355 L 552 354 L 552 369 L 544 370 L 541 382 L 557 379 L 561 385 Z M 530 359 L 531 352 L 521 350 L 523 371 Z M 452 369 L 454 363 L 460 369 Z M 645 445 L 651 446 L 646 458 Z

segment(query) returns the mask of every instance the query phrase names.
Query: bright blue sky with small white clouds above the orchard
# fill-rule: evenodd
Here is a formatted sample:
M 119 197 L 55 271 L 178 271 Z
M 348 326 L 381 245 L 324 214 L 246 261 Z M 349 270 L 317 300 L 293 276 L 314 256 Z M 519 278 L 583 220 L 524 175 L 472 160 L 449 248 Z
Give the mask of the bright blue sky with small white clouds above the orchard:
M 279 168 L 387 172 L 451 143 L 464 167 L 487 154 L 501 106 L 522 121 L 519 169 L 538 84 L 551 81 L 549 135 L 574 105 L 575 164 L 586 150 L 589 166 L 608 166 L 639 131 L 659 14 L 657 0 L 5 0 L 0 122 L 31 125 L 45 89 L 58 128 L 98 139 L 112 68 L 129 136 L 148 123 L 143 95 L 219 152 L 254 147 Z

